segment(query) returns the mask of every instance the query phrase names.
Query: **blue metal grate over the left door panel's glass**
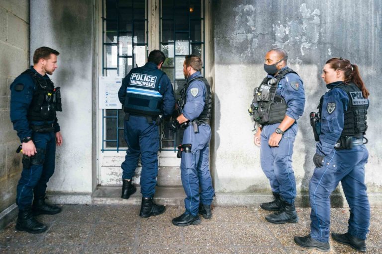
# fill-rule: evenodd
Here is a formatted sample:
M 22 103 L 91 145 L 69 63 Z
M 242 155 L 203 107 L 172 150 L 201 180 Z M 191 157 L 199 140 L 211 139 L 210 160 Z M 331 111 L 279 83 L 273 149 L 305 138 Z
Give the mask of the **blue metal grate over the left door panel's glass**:
M 103 1 L 103 75 L 124 78 L 133 66 L 145 64 L 148 54 L 147 6 L 148 0 Z M 102 152 L 126 151 L 123 116 L 122 110 L 102 110 Z

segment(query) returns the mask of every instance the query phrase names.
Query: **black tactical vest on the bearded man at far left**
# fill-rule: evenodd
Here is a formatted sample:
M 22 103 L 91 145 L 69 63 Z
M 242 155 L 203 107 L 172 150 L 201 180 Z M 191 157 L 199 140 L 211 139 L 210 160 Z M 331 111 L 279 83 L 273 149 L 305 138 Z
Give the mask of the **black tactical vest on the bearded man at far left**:
M 28 120 L 54 121 L 56 111 L 62 111 L 60 87 L 55 88 L 49 78 L 45 79 L 31 69 L 23 73 L 30 75 L 34 82 L 32 102 L 27 114 Z

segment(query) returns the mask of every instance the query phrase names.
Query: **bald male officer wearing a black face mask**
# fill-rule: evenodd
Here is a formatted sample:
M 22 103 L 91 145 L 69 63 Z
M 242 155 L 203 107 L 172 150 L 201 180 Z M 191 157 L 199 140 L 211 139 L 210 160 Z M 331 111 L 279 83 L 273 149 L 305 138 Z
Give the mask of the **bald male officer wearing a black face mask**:
M 259 124 L 254 143 L 260 146 L 261 166 L 274 195 L 273 201 L 260 206 L 276 211 L 266 216 L 267 221 L 276 224 L 298 222 L 292 154 L 296 121 L 304 111 L 305 94 L 301 78 L 286 66 L 287 58 L 283 49 L 267 52 L 264 70 L 268 75 L 255 88 L 250 106 L 250 113 Z

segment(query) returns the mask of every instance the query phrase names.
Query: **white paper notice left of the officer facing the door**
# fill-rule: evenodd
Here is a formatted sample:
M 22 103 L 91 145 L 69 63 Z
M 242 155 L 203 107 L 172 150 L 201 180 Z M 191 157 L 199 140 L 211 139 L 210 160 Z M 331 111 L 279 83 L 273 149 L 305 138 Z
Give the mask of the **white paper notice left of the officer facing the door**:
M 118 91 L 122 84 L 120 77 L 99 77 L 98 82 L 98 108 L 121 109 Z

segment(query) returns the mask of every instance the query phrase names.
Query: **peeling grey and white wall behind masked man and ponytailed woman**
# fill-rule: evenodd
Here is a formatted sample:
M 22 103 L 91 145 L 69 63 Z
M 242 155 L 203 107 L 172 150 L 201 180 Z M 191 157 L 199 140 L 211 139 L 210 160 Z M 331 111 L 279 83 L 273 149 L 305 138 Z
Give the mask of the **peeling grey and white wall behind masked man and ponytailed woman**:
M 276 47 L 288 52 L 289 66 L 302 77 L 306 92 L 293 154 L 298 193 L 307 190 L 313 173 L 315 142 L 308 114 L 326 91 L 321 69 L 332 57 L 359 65 L 371 92 L 366 182 L 370 193 L 382 191 L 381 1 L 216 0 L 214 10 L 216 191 L 270 191 L 247 109 L 266 74 L 264 55 Z

